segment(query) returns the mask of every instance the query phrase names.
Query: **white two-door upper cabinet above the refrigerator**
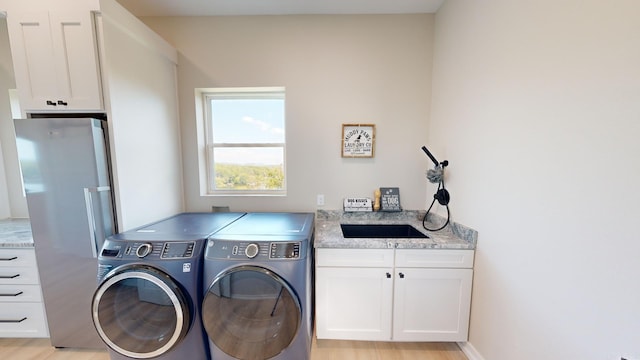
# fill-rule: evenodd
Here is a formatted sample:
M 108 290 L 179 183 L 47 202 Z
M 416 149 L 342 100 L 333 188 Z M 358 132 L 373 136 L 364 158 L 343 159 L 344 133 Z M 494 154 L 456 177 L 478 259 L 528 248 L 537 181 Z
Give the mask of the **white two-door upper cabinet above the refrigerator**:
M 92 12 L 8 12 L 7 26 L 24 111 L 103 110 Z

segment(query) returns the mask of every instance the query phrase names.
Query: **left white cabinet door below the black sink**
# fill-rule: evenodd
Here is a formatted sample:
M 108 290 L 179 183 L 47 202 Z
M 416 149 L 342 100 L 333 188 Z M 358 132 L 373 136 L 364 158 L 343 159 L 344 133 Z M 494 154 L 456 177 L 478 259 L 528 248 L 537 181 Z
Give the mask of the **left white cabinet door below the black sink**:
M 390 340 L 391 268 L 316 269 L 318 339 Z

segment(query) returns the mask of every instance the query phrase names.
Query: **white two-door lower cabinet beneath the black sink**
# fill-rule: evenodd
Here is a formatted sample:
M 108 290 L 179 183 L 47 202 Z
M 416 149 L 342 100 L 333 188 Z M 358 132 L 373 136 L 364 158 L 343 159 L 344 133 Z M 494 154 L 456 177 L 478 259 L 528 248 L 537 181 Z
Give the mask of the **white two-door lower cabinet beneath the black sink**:
M 473 255 L 473 250 L 317 249 L 317 337 L 466 341 Z

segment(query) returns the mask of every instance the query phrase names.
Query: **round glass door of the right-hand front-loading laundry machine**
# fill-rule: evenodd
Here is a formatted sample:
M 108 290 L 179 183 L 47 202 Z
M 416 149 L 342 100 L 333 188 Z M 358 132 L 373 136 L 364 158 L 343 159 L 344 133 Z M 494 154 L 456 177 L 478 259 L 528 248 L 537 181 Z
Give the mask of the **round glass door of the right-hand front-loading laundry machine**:
M 300 300 L 289 284 L 259 266 L 219 274 L 202 303 L 211 342 L 242 360 L 269 359 L 285 350 L 302 320 Z

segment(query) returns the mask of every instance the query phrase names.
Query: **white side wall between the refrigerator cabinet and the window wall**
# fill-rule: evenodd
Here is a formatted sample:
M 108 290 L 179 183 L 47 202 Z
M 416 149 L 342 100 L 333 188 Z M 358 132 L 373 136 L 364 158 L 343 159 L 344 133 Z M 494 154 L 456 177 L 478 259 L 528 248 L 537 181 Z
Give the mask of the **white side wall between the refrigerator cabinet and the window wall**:
M 176 51 L 103 2 L 103 81 L 120 231 L 184 211 Z

